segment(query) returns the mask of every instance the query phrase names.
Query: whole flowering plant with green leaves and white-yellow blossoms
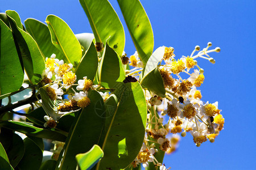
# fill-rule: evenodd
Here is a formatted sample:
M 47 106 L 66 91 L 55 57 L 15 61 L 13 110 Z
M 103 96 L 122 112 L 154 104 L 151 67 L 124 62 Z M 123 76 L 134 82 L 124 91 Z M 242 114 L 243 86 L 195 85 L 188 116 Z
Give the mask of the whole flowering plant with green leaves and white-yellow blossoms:
M 1 104 L 9 99 L 0 108 L 0 168 L 166 169 L 164 154 L 176 150 L 178 134 L 189 131 L 196 146 L 214 142 L 224 118 L 217 102 L 201 101 L 204 70 L 196 58 L 215 63 L 208 53 L 220 48 L 209 50 L 208 42 L 180 59 L 172 47 L 153 52 L 141 2 L 118 0 L 137 49 L 127 57 L 109 1 L 80 3 L 93 34 L 74 35 L 55 15 L 47 25 L 23 25 L 15 11 L 0 14 Z M 26 90 L 30 95 L 20 99 Z M 12 103 L 15 96 L 20 100 Z M 47 141 L 54 144 L 50 158 Z

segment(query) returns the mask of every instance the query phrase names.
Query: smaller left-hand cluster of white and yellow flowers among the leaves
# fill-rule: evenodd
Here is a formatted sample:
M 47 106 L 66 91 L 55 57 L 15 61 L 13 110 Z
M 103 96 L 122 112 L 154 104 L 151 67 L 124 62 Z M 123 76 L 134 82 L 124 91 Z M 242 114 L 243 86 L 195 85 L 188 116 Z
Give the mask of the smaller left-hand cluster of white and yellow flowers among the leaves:
M 46 70 L 42 74 L 42 83 L 49 99 L 59 101 L 55 108 L 56 114 L 87 107 L 90 104 L 88 91 L 97 88 L 97 85 L 93 85 L 92 80 L 87 79 L 86 76 L 78 80 L 78 84 L 75 84 L 76 74 L 73 73 L 72 69 L 73 65 L 71 63 L 64 63 L 62 59 L 57 59 L 55 54 L 46 58 Z M 76 90 L 79 92 L 73 86 L 76 86 Z M 72 91 L 69 91 L 69 89 Z M 64 94 L 68 95 L 68 99 L 64 99 Z M 49 115 L 45 116 L 44 119 L 46 120 L 45 127 L 56 127 L 57 120 Z

